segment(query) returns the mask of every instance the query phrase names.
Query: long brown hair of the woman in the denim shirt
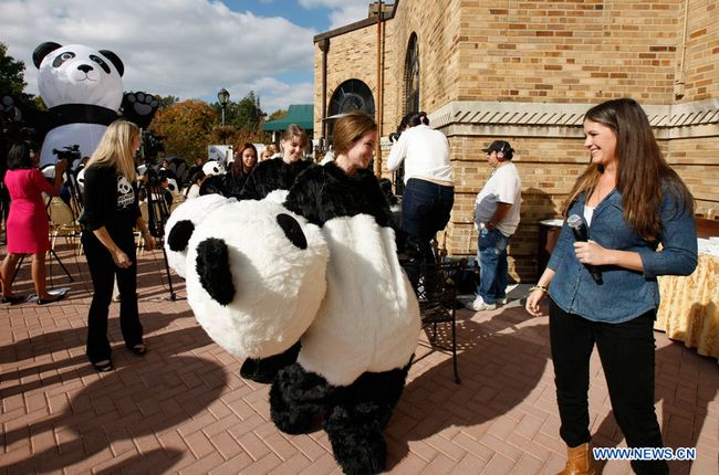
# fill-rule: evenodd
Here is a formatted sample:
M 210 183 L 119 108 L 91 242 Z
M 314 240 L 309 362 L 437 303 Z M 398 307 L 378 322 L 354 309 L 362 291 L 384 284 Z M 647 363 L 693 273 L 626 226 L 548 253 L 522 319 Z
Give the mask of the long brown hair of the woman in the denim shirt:
M 587 110 L 584 119 L 609 127 L 616 136 L 616 189 L 624 220 L 637 234 L 647 240 L 661 234 L 659 210 L 665 192 L 673 196 L 677 212 L 694 214 L 691 193 L 661 156 L 649 119 L 636 101 L 607 101 Z M 591 163 L 577 178 L 562 209 L 564 217 L 580 194 L 592 194 L 603 172 L 603 166 Z

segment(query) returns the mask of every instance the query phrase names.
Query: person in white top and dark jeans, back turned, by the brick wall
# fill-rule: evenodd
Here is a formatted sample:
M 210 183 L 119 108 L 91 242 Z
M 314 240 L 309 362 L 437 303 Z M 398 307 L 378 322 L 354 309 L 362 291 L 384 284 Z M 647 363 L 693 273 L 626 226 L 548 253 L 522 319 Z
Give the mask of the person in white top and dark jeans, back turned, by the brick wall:
M 449 162 L 449 141 L 429 127 L 427 113 L 407 114 L 395 134 L 387 169 L 405 162 L 405 192 L 402 199 L 402 230 L 407 234 L 406 267 L 416 285 L 419 266 L 436 261 L 430 241 L 449 222 L 455 204 L 455 184 Z

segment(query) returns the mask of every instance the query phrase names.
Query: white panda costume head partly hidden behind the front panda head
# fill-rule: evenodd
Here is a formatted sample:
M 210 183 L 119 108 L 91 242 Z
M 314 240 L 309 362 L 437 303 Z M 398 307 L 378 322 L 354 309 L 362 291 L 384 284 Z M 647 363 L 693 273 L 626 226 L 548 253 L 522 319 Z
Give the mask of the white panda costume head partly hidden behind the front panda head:
M 177 207 L 165 224 L 165 253 L 167 264 L 180 276 L 185 277 L 187 262 L 187 244 L 195 229 L 199 228 L 205 218 L 218 212 L 228 203 L 236 202 L 221 194 L 205 194 L 186 200 Z

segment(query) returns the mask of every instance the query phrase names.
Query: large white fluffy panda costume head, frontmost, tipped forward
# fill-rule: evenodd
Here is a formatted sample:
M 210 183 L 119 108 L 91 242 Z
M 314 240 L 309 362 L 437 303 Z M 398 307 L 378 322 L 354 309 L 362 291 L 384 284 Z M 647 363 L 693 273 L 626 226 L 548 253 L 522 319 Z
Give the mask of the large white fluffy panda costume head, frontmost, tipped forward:
M 315 318 L 329 251 L 320 229 L 272 200 L 213 212 L 192 233 L 187 299 L 229 352 L 263 358 L 286 350 Z

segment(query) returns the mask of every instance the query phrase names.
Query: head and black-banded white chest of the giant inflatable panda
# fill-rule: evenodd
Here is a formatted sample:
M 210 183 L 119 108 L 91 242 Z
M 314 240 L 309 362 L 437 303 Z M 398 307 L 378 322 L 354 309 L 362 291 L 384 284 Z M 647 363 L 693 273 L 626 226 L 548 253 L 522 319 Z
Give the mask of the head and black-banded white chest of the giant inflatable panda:
M 40 165 L 56 160 L 53 150 L 79 145 L 91 156 L 123 102 L 123 62 L 115 53 L 82 44 L 42 43 L 32 54 L 38 89 L 49 108 L 51 129 Z

